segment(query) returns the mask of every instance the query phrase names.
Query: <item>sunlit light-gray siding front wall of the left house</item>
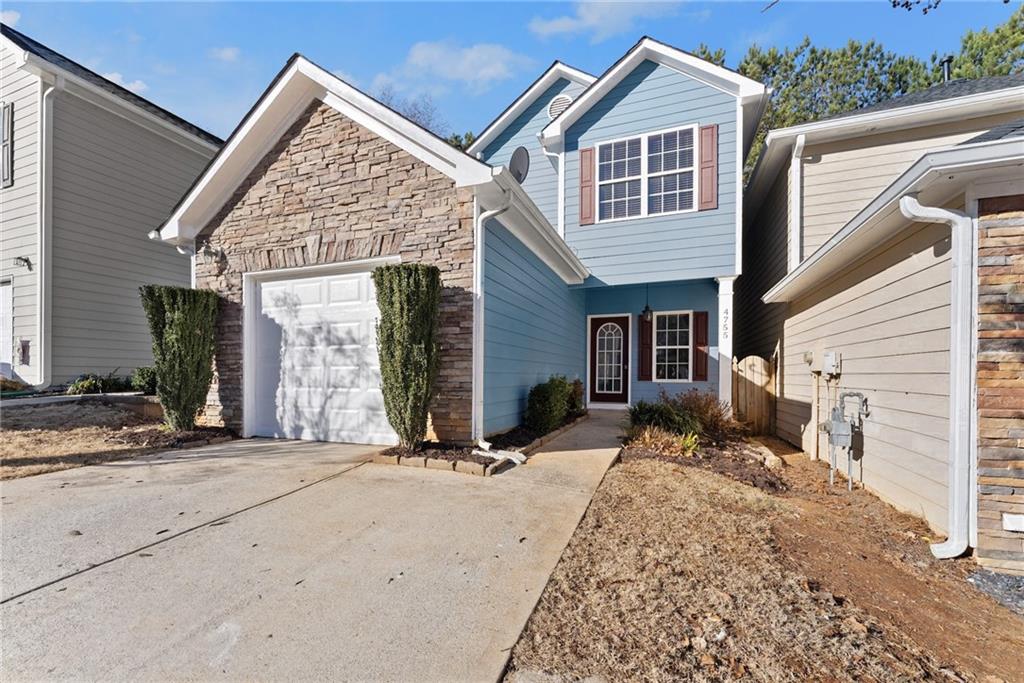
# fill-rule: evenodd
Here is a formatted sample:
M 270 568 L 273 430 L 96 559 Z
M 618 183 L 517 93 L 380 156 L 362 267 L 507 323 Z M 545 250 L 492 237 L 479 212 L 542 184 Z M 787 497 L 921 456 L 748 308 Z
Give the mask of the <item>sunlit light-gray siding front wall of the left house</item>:
M 39 144 L 40 83 L 36 76 L 20 71 L 14 53 L 0 52 L 0 98 L 14 104 L 14 184 L 0 189 L 0 281 L 12 288 L 12 350 L 14 375 L 25 382 L 39 381 L 37 270 L 15 266 L 14 258 L 25 256 L 39 263 L 39 195 L 37 157 Z M 31 345 L 30 365 L 19 365 L 16 347 L 19 340 Z

